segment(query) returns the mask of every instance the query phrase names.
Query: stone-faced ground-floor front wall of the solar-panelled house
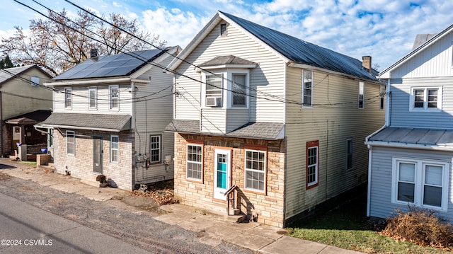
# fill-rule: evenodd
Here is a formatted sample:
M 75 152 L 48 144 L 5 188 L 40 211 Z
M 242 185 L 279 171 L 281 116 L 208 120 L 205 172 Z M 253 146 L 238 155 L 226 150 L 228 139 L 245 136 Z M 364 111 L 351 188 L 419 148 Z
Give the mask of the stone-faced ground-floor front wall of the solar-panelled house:
M 123 190 L 132 190 L 133 171 L 133 142 L 131 132 L 92 132 L 90 130 L 76 129 L 76 152 L 75 156 L 66 154 L 66 130 L 59 132 L 55 129 L 55 171 L 65 174 L 71 172 L 71 177 L 96 181 L 93 173 L 93 136 L 103 137 L 103 175 L 110 184 L 116 185 Z M 68 129 L 74 130 L 74 129 Z M 118 135 L 118 162 L 110 162 L 110 134 Z

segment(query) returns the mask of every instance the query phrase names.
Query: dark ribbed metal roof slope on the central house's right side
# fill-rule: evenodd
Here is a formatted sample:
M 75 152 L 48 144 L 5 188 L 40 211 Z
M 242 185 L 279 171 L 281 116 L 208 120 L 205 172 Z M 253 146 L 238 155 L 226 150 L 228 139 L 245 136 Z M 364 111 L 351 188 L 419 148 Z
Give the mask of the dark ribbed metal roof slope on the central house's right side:
M 242 28 L 258 37 L 258 39 L 294 63 L 337 71 L 362 79 L 377 80 L 376 76 L 378 72 L 373 69 L 373 75 L 370 75 L 367 69 L 362 67 L 362 62 L 358 59 L 328 50 L 297 37 L 266 28 L 222 11 L 219 11 L 219 13 L 230 18 L 236 24 L 241 25 Z

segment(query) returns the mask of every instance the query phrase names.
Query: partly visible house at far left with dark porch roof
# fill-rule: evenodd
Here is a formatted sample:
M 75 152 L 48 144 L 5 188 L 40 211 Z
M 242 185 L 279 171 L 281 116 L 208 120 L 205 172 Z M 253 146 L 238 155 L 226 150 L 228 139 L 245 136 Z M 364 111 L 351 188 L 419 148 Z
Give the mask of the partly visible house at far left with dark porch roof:
M 14 155 L 18 143 L 28 144 L 30 149 L 35 145 L 46 146 L 46 135 L 36 131 L 33 125 L 50 114 L 52 89 L 42 85 L 50 79 L 52 76 L 37 65 L 0 70 L 2 156 Z

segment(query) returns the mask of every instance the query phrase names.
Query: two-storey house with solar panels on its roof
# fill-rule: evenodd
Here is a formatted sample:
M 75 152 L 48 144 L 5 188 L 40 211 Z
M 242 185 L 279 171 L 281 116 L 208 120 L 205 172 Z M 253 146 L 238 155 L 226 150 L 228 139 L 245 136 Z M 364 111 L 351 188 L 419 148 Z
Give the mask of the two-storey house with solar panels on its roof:
M 39 127 L 53 136 L 55 170 L 110 186 L 173 179 L 173 79 L 164 68 L 180 47 L 93 56 L 46 83 L 54 111 Z

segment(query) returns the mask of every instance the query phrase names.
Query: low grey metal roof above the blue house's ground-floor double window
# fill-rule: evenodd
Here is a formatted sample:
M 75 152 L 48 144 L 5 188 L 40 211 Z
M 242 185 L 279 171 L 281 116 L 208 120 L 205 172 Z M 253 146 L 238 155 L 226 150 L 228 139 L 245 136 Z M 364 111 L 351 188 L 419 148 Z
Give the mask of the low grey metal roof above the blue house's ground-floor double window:
M 453 130 L 386 127 L 369 137 L 368 141 L 425 146 L 453 146 Z

